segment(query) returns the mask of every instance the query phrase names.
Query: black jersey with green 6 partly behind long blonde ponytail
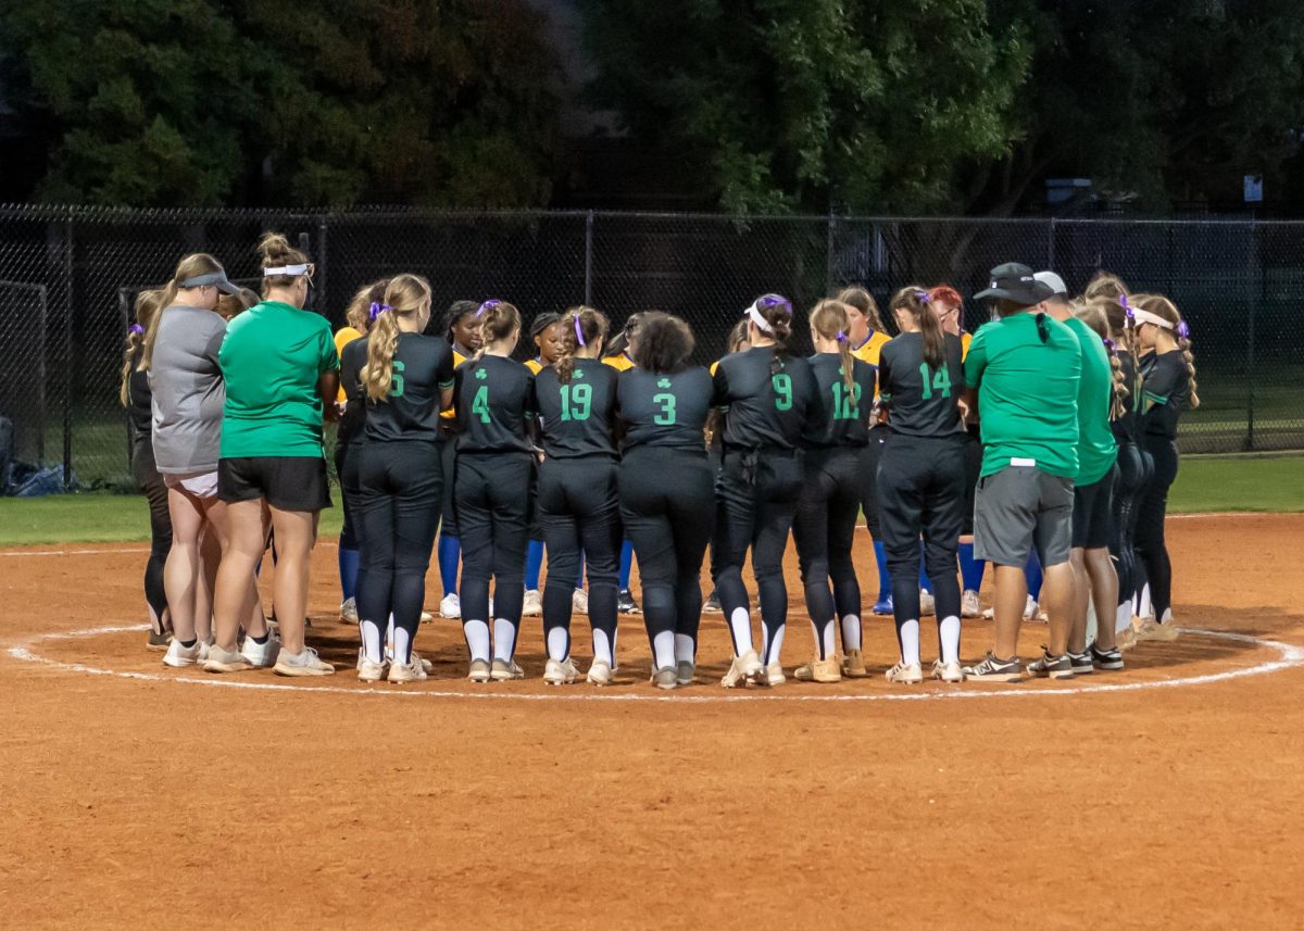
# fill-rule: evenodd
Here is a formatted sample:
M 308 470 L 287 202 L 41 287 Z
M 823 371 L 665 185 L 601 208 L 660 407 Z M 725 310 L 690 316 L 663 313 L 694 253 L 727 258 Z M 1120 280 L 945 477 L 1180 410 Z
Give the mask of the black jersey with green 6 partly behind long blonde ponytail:
M 344 395 L 349 399 L 346 411 L 353 407 L 348 385 L 355 382 L 359 396 L 365 399 L 363 429 L 368 442 L 436 442 L 439 438 L 439 394 L 452 387 L 452 347 L 442 336 L 400 332 L 394 347 L 390 391 L 374 400 L 361 385 L 369 340 L 370 336 L 364 336 L 344 347 L 346 361 L 340 370 L 346 379 Z M 360 348 L 355 351 L 355 346 Z

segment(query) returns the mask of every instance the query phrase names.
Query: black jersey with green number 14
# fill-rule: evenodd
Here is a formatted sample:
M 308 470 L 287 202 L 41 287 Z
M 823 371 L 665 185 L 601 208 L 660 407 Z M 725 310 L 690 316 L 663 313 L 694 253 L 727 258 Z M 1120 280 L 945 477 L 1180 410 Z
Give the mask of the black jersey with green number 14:
M 888 408 L 888 428 L 909 437 L 964 433 L 960 395 L 965 369 L 960 338 L 945 334 L 944 365 L 934 370 L 923 360 L 923 334 L 902 332 L 879 352 L 879 398 Z

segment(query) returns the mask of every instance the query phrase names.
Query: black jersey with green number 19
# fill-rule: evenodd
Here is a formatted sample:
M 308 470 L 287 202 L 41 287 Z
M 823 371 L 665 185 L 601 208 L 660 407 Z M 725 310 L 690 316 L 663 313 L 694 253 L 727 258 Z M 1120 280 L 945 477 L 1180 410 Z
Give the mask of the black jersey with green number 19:
M 535 409 L 549 459 L 615 456 L 617 372 L 600 359 L 576 359 L 567 385 L 549 365 L 535 376 Z

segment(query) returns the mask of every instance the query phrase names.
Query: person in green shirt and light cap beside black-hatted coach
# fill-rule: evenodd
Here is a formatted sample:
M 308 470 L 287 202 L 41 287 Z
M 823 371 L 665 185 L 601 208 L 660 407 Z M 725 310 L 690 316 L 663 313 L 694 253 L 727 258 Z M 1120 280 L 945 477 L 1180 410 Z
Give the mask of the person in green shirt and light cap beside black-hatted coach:
M 1114 365 L 1101 335 L 1073 314 L 1064 279 L 1038 271 L 1037 280 L 1054 293 L 1042 304 L 1046 313 L 1071 329 L 1082 351 L 1082 381 L 1077 390 L 1077 481 L 1073 484 L 1073 615 L 1068 657 L 1074 673 L 1123 669 L 1123 653 L 1114 642 L 1114 612 L 1119 602 L 1119 574 L 1110 558 L 1114 520 L 1114 482 L 1118 480 L 1119 445 L 1110 429 L 1114 409 Z M 1086 647 L 1086 610 L 1095 596 L 1097 630 Z

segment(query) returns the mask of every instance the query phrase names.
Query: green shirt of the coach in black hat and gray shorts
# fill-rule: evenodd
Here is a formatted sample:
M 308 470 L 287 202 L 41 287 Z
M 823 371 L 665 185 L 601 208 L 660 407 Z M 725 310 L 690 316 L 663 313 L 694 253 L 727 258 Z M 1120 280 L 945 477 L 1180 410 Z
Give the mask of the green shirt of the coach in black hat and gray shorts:
M 1045 343 L 1039 326 L 1047 334 Z M 1026 312 L 981 326 L 965 356 L 965 383 L 978 387 L 982 475 L 1000 472 L 1016 459 L 1077 479 L 1081 378 L 1082 349 L 1063 323 Z

